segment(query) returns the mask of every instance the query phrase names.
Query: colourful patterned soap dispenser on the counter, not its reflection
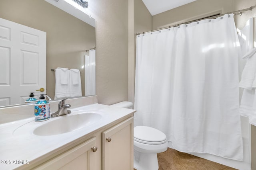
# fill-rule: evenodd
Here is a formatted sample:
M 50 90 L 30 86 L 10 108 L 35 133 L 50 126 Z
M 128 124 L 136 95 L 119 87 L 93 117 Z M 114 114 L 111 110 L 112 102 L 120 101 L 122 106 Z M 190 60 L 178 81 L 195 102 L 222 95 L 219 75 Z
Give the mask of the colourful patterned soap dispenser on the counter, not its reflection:
M 39 101 L 35 104 L 35 121 L 50 119 L 50 104 L 45 100 L 44 94 L 40 95 Z

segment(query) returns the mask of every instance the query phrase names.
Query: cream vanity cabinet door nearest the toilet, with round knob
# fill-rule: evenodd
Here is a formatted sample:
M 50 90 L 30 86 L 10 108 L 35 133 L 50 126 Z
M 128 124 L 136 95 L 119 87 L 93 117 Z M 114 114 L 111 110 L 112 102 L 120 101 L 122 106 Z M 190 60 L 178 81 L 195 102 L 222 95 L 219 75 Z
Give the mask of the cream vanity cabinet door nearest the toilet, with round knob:
M 102 132 L 102 170 L 133 170 L 133 117 Z

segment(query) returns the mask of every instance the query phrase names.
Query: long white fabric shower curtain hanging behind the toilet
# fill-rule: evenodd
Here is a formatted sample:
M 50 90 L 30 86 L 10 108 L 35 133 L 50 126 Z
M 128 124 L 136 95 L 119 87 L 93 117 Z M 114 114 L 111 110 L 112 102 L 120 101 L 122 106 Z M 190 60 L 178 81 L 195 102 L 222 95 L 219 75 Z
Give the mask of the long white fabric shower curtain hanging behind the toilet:
M 243 159 L 233 15 L 137 35 L 135 125 L 175 149 Z

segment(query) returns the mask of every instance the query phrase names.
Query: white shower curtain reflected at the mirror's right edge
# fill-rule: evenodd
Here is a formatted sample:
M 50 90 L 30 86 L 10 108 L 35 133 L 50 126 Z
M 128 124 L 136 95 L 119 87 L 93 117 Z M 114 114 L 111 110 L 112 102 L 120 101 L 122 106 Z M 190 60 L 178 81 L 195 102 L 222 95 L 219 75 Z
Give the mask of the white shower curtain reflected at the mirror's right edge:
M 85 55 L 85 96 L 96 94 L 96 50 L 89 50 Z

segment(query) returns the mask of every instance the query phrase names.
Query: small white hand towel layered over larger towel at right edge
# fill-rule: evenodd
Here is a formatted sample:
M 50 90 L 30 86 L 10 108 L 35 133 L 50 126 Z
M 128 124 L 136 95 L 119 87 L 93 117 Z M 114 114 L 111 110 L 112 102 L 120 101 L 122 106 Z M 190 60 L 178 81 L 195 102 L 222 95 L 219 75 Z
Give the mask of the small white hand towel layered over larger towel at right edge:
M 244 66 L 244 70 L 242 72 L 242 77 L 241 77 L 241 81 L 239 82 L 239 87 L 251 90 L 254 79 L 255 79 L 255 74 L 256 74 L 256 53 L 254 53 L 252 57 L 248 58 Z

